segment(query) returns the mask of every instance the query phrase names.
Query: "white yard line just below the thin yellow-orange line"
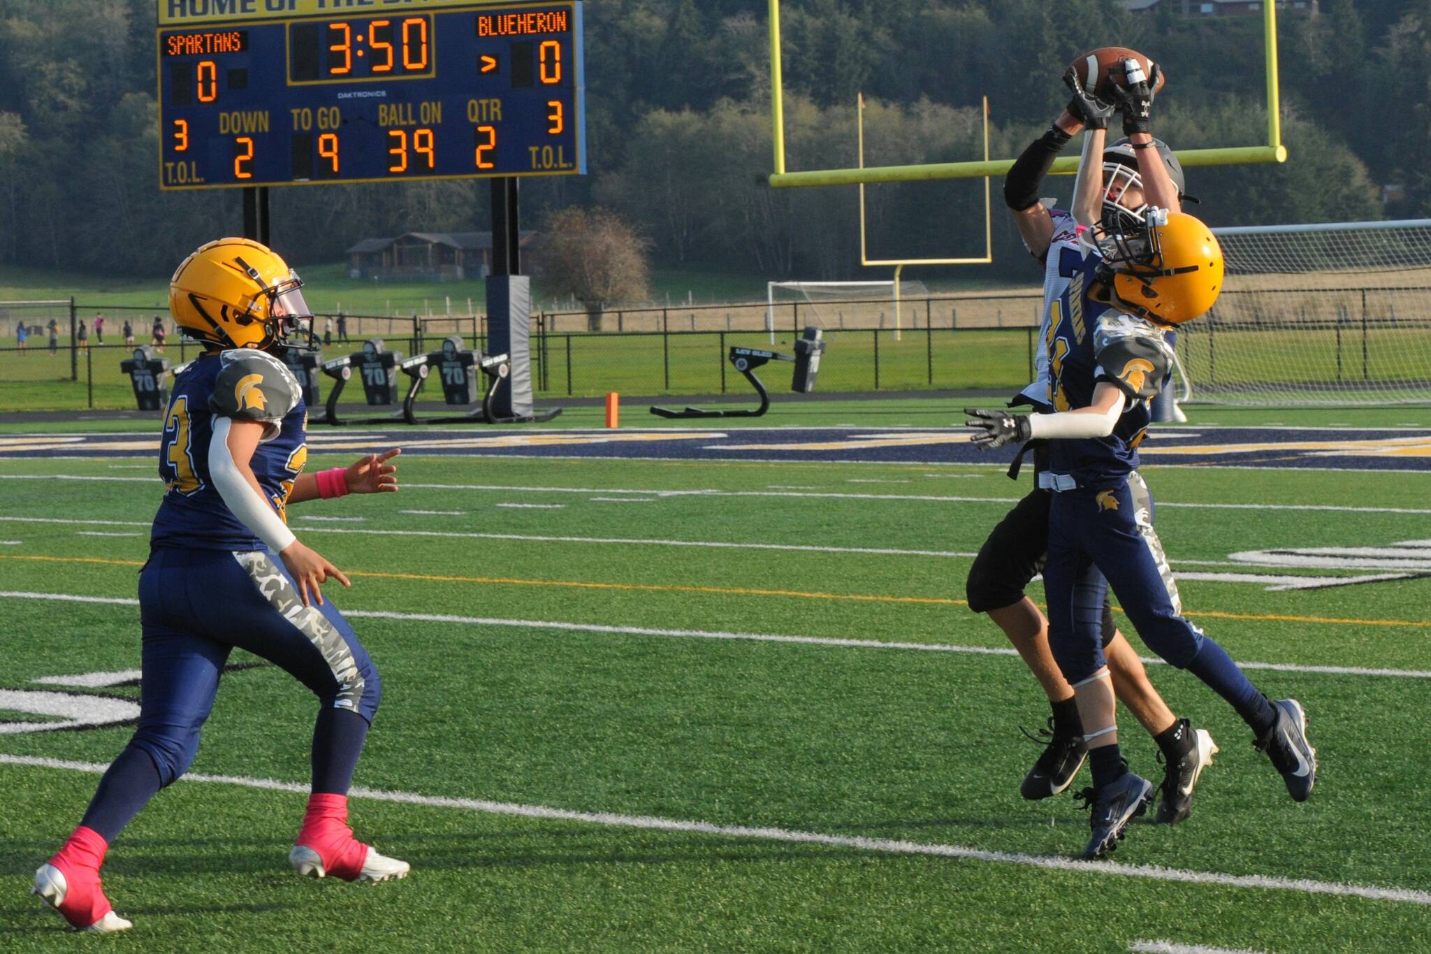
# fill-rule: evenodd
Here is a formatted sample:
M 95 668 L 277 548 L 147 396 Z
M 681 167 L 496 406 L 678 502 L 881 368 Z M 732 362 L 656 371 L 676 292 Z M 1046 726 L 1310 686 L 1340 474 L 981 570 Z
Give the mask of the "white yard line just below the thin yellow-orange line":
M 52 599 L 59 602 L 110 604 L 137 606 L 132 596 L 79 596 L 72 594 L 37 594 L 21 591 L 0 591 L 0 599 Z M 604 632 L 621 636 L 668 636 L 691 639 L 738 639 L 748 642 L 784 642 L 807 646 L 836 646 L 846 649 L 912 649 L 914 652 L 963 652 L 982 657 L 1016 657 L 1006 646 L 962 646 L 946 642 L 886 642 L 881 639 L 841 639 L 839 636 L 791 636 L 768 632 L 724 632 L 720 629 L 653 629 L 648 626 L 608 626 L 591 622 L 560 622 L 551 619 L 502 619 L 497 616 L 451 616 L 429 612 L 391 612 L 384 609 L 343 609 L 353 619 L 396 619 L 399 622 L 454 622 L 468 626 L 511 626 L 518 629 L 557 629 L 567 632 Z M 1166 665 L 1156 657 L 1139 657 L 1148 665 Z M 1274 672 L 1309 672 L 1317 675 L 1365 675 L 1400 679 L 1431 679 L 1425 669 L 1377 669 L 1365 667 L 1321 667 L 1296 662 L 1239 662 L 1244 669 L 1269 669 Z

